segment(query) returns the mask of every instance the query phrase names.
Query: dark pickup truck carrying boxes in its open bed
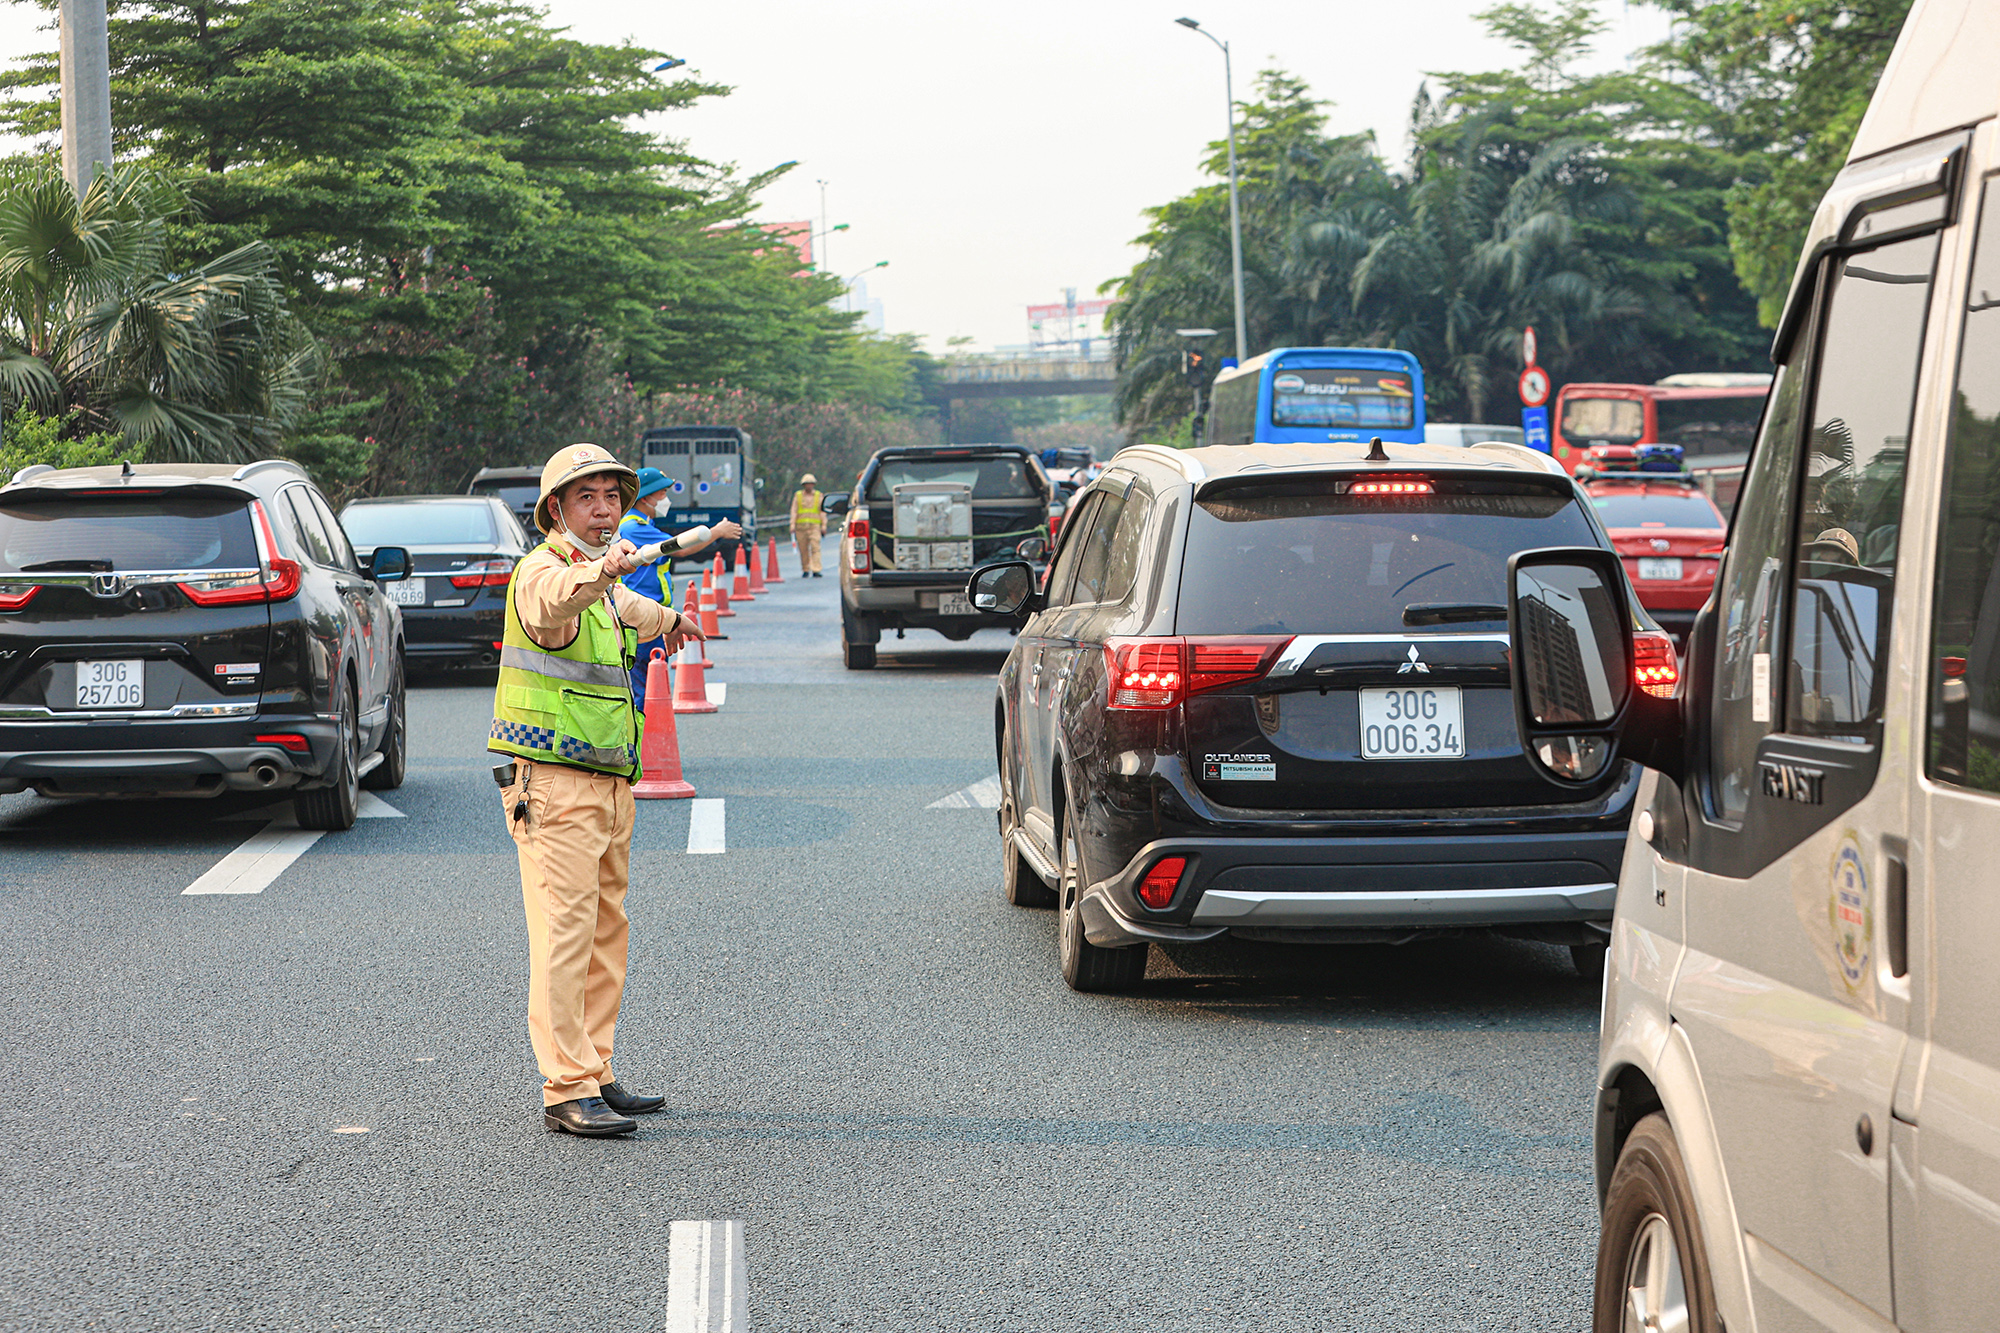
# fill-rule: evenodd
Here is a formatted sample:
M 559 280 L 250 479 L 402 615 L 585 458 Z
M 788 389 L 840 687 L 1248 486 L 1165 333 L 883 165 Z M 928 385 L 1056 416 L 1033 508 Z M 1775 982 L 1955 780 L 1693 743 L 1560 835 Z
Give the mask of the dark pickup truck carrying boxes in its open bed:
M 968 486 L 968 542 L 896 532 L 898 486 Z M 850 671 L 874 666 L 882 630 L 932 628 L 970 638 L 992 628 L 966 600 L 966 576 L 988 560 L 1042 558 L 1056 486 L 1020 444 L 954 444 L 878 450 L 852 494 L 826 496 L 828 522 L 844 522 L 840 542 L 840 636 Z M 1038 546 L 1022 548 L 1036 540 Z M 916 550 L 922 548 L 922 556 Z M 902 568 L 898 568 L 902 554 Z

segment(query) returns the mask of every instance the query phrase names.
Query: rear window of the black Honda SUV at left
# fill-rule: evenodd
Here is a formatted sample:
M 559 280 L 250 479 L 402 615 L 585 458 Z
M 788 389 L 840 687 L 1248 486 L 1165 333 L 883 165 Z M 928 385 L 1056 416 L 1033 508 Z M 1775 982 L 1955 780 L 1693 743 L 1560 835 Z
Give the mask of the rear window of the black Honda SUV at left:
M 0 574 L 256 568 L 250 508 L 232 496 L 20 498 L 0 504 Z

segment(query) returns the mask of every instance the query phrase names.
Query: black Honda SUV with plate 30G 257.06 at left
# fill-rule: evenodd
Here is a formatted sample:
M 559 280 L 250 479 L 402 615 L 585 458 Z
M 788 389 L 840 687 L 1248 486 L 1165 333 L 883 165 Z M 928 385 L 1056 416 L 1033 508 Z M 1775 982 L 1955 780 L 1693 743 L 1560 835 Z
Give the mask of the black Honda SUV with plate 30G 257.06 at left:
M 0 793 L 288 791 L 346 829 L 402 783 L 402 616 L 292 462 L 22 468 L 0 486 Z

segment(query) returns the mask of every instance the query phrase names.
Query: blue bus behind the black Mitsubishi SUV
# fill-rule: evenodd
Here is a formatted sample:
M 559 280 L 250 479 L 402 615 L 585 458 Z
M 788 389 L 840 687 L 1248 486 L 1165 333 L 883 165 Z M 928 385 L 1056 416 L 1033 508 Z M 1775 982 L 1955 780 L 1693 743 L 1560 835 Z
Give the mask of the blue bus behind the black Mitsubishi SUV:
M 1382 346 L 1280 346 L 1224 370 L 1208 444 L 1424 442 L 1424 368 Z

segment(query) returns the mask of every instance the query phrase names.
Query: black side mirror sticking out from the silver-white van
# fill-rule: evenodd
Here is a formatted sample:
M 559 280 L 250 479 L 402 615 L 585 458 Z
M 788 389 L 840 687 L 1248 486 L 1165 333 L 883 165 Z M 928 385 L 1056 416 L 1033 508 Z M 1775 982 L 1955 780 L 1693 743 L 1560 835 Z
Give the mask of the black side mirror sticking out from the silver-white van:
M 1508 560 L 1514 721 L 1530 761 L 1564 787 L 1596 783 L 1620 751 L 1680 777 L 1680 707 L 1636 685 L 1630 596 L 1610 550 Z

